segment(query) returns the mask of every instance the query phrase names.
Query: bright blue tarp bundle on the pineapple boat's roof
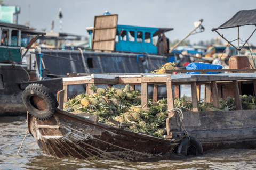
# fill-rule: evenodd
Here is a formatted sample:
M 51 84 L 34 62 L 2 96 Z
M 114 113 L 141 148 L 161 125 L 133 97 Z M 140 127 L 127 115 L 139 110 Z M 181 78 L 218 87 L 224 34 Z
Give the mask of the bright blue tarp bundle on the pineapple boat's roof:
M 223 69 L 221 65 L 207 64 L 207 63 L 190 63 L 186 67 L 187 70 L 200 70 L 200 69 Z M 206 74 L 218 74 L 221 72 L 206 72 Z M 200 74 L 200 72 L 187 72 L 187 74 Z

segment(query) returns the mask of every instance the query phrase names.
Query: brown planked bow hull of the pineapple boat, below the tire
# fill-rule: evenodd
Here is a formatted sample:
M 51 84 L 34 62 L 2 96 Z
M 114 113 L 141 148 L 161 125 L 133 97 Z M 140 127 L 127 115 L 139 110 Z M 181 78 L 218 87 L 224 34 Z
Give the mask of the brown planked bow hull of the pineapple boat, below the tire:
M 56 158 L 141 160 L 167 154 L 179 144 L 59 109 L 45 121 L 28 114 L 28 128 L 43 152 Z

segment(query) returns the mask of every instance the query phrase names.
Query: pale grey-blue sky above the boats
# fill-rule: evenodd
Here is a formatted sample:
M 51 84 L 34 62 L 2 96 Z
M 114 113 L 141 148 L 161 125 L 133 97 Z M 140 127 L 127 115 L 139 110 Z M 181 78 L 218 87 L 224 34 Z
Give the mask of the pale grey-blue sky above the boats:
M 256 8 L 256 1 L 225 0 L 4 0 L 5 5 L 21 7 L 19 24 L 29 21 L 30 26 L 38 31 L 50 31 L 54 20 L 54 31 L 59 31 L 57 15 L 61 8 L 62 32 L 88 36 L 86 27 L 93 26 L 95 15 L 102 15 L 106 10 L 118 14 L 118 24 L 141 27 L 174 28 L 165 35 L 171 41 L 182 39 L 194 29 L 194 22 L 203 19 L 205 31 L 187 38 L 191 44 L 219 37 L 212 28 L 217 28 L 228 21 L 238 11 Z M 240 27 L 240 38 L 246 40 L 254 31 L 254 25 Z M 237 28 L 219 30 L 229 41 L 237 39 Z M 222 39 L 222 43 L 226 41 Z M 249 43 L 256 45 L 256 33 Z M 237 45 L 237 42 L 234 43 Z

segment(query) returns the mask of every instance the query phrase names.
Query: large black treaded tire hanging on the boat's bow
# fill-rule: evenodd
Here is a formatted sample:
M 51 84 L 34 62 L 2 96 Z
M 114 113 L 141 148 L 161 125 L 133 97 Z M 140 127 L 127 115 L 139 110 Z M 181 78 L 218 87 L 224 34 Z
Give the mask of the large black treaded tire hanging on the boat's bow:
M 33 96 L 43 99 L 46 108 L 43 110 L 36 108 L 30 100 Z M 49 119 L 56 112 L 56 108 L 58 107 L 58 101 L 51 90 L 42 84 L 29 84 L 22 92 L 22 100 L 27 107 L 28 112 L 38 120 Z

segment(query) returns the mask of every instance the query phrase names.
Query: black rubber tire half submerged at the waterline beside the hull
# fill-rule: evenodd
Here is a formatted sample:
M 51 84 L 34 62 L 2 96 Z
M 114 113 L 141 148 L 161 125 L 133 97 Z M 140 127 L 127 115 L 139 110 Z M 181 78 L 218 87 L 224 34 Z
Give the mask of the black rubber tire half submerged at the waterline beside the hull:
M 189 143 L 189 138 L 190 138 L 190 143 Z M 204 152 L 203 147 L 199 142 L 199 140 L 192 136 L 189 136 L 189 138 L 186 137 L 181 141 L 177 150 L 177 154 L 187 156 L 187 151 L 189 146 L 193 146 L 196 150 L 196 156 L 203 155 L 203 152 Z

